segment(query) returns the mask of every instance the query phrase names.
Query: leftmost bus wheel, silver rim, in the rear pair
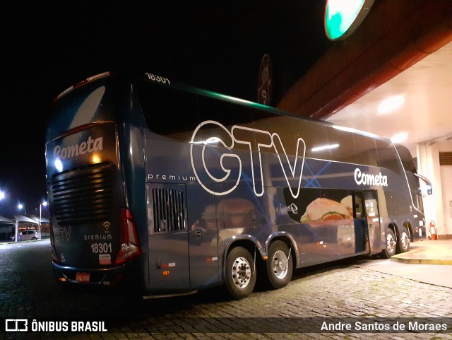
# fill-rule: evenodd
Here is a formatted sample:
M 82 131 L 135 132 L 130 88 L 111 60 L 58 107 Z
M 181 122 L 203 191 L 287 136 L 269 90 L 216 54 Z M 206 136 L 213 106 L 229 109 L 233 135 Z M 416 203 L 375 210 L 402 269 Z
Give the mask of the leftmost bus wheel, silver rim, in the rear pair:
M 256 285 L 256 268 L 250 252 L 235 247 L 226 257 L 225 286 L 235 300 L 246 298 Z

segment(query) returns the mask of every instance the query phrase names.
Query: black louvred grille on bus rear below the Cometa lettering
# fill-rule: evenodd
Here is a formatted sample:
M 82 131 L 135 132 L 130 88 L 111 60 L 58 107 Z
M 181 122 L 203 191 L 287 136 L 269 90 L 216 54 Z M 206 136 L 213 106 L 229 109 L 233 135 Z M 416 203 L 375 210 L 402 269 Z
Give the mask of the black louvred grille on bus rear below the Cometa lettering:
M 57 223 L 108 221 L 112 216 L 112 177 L 112 167 L 100 163 L 52 178 L 51 199 Z

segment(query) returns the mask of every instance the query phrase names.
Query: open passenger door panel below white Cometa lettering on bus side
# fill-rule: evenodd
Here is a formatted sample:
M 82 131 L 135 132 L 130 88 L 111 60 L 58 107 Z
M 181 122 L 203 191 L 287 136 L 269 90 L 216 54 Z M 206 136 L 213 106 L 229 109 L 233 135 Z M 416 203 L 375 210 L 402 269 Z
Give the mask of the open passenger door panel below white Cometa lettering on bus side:
M 364 206 L 366 207 L 367 228 L 369 230 L 370 252 L 380 252 L 381 247 L 381 226 L 379 204 L 375 190 L 365 190 Z

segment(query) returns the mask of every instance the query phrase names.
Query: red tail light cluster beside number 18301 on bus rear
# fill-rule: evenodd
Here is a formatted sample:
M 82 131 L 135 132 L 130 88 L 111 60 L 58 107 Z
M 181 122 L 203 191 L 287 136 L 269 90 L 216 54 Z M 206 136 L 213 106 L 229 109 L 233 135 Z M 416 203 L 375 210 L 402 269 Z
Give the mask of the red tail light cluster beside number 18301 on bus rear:
M 129 209 L 121 208 L 121 238 L 116 264 L 121 264 L 131 257 L 141 253 L 138 237 L 136 235 L 135 223 Z

